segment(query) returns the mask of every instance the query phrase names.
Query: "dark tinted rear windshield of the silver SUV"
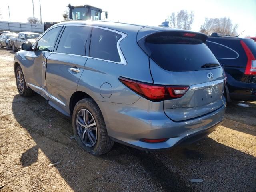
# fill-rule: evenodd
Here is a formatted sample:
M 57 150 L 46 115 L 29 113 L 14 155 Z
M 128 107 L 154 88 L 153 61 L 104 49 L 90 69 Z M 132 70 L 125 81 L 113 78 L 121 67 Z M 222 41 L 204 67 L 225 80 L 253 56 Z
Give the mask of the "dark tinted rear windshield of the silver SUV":
M 150 58 L 168 71 L 204 70 L 209 69 L 203 67 L 205 64 L 219 64 L 206 44 L 198 38 L 166 36 L 158 33 L 146 38 L 145 47 Z

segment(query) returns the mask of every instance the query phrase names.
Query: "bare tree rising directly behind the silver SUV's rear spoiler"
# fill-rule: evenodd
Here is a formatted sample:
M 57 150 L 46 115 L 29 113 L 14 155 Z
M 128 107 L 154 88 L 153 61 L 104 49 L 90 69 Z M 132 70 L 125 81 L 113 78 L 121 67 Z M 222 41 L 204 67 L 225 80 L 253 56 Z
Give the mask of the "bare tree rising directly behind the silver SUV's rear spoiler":
M 180 10 L 177 12 L 177 14 L 172 12 L 172 14 L 168 16 L 170 27 L 191 30 L 194 16 L 195 15 L 192 11 L 190 12 L 190 14 L 188 14 L 187 10 Z

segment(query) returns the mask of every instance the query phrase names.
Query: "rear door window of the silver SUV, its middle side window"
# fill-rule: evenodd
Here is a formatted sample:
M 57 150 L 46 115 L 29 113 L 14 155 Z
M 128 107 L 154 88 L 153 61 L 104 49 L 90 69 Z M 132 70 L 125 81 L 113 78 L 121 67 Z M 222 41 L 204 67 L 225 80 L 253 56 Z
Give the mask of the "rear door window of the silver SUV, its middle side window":
M 90 32 L 91 27 L 66 26 L 56 52 L 85 55 L 86 40 L 90 35 Z

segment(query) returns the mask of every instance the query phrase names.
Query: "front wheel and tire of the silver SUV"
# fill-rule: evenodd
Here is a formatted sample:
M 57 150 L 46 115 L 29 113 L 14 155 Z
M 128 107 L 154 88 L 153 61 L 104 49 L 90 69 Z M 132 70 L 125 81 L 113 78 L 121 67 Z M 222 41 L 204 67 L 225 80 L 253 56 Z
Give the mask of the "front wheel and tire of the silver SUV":
M 34 92 L 32 89 L 27 87 L 24 74 L 20 66 L 18 66 L 15 71 L 15 78 L 16 78 L 16 86 L 20 96 L 23 96 L 23 97 L 32 96 Z

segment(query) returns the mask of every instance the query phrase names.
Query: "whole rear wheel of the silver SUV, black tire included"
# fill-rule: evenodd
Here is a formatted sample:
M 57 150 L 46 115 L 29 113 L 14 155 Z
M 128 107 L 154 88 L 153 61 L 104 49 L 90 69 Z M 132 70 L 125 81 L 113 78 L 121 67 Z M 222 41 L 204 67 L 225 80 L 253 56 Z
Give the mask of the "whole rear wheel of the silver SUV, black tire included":
M 111 150 L 114 141 L 108 136 L 100 108 L 92 98 L 77 102 L 72 125 L 74 138 L 90 154 L 99 156 Z

